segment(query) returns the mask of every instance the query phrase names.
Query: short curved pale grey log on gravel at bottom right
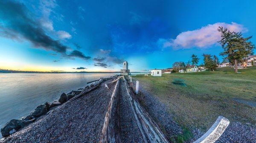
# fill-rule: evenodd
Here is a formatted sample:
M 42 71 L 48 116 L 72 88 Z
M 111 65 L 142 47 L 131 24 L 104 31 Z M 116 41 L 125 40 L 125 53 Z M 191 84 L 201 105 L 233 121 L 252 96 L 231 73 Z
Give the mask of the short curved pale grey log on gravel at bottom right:
M 193 143 L 214 143 L 221 137 L 229 123 L 230 121 L 227 118 L 219 116 L 211 128 Z

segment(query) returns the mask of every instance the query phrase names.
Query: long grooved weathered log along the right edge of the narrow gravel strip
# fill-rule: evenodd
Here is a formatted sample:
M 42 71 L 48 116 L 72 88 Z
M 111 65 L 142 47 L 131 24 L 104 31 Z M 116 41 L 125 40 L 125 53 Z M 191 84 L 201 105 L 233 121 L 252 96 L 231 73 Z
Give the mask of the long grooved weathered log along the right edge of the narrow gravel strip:
M 157 124 L 150 118 L 148 113 L 140 106 L 139 101 L 137 100 L 136 96 L 133 92 L 131 92 L 130 88 L 128 87 L 128 83 L 125 80 L 125 87 L 127 94 L 130 98 L 130 104 L 134 116 L 137 121 L 137 125 L 140 129 L 142 134 L 143 140 L 145 143 L 169 143 L 167 138 L 163 135 L 163 132 L 157 126 Z

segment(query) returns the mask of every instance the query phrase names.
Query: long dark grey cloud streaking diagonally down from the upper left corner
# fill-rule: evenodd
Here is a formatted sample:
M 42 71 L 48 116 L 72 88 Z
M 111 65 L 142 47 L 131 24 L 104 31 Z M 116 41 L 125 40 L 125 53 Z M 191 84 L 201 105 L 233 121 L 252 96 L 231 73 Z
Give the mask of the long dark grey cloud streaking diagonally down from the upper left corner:
M 49 5 L 52 4 L 49 3 Z M 55 51 L 63 56 L 90 59 L 90 56 L 84 56 L 78 50 L 74 50 L 68 55 L 66 52 L 70 47 L 48 36 L 41 27 L 42 25 L 24 4 L 0 0 L 0 9 L 0 36 L 18 41 L 27 40 L 35 48 Z M 50 10 L 46 9 L 44 13 L 47 14 L 47 11 Z

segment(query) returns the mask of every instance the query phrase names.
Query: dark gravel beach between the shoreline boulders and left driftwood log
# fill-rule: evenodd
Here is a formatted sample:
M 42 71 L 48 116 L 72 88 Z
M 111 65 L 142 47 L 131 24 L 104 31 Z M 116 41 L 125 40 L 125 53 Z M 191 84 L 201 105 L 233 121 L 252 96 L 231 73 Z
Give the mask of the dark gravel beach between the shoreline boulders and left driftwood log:
M 110 82 L 110 81 L 105 81 Z M 41 116 L 0 143 L 99 143 L 108 104 L 115 86 L 105 83 L 90 93 Z

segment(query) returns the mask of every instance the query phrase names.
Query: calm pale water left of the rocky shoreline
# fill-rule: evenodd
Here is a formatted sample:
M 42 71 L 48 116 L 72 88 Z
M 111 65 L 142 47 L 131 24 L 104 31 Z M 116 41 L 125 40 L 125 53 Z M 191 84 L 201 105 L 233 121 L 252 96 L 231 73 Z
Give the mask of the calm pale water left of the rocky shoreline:
M 0 73 L 0 128 L 87 82 L 118 73 Z M 1 135 L 0 135 L 1 137 Z

